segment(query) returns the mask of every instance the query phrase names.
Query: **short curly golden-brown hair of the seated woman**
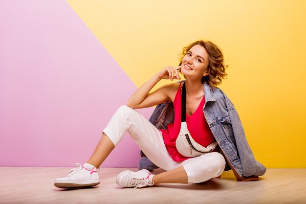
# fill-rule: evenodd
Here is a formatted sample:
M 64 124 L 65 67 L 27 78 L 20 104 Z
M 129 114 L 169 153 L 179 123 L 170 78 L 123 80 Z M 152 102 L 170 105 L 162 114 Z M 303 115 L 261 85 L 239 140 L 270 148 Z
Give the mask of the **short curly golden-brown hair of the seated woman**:
M 182 65 L 184 56 L 194 45 L 201 45 L 204 47 L 209 56 L 208 75 L 202 77 L 202 83 L 207 83 L 212 88 L 217 87 L 222 83 L 222 79 L 227 79 L 225 78 L 227 76 L 225 69 L 228 67 L 228 65 L 224 65 L 222 50 L 216 44 L 210 41 L 199 40 L 188 45 L 187 47 L 184 47 L 182 53 L 179 54 L 179 66 Z

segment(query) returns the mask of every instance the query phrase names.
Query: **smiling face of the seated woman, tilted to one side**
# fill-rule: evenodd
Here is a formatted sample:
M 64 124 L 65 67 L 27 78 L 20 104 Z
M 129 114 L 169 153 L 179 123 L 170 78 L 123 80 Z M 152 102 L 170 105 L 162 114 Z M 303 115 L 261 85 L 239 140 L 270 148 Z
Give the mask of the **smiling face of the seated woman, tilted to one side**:
M 208 52 L 201 45 L 194 45 L 182 60 L 181 72 L 186 77 L 202 78 L 208 75 Z

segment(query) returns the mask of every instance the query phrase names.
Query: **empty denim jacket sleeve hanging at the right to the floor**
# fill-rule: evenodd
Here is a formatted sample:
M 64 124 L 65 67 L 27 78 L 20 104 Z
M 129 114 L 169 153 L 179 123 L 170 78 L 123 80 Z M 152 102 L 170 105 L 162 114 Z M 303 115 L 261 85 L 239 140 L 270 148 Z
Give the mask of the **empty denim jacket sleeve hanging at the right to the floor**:
M 265 173 L 266 168 L 254 158 L 254 154 L 246 140 L 245 133 L 234 104 L 223 92 L 226 102 L 226 107 L 232 123 L 232 128 L 236 140 L 237 150 L 242 165 L 243 176 L 252 175 L 261 176 Z

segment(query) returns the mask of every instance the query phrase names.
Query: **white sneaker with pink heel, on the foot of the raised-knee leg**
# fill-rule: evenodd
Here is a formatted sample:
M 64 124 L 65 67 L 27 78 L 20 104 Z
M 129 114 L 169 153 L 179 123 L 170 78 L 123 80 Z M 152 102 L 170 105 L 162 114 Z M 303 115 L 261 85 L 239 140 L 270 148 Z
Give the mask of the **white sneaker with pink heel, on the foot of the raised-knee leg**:
M 79 163 L 75 163 L 76 168 L 71 169 L 68 175 L 63 178 L 57 178 L 54 185 L 58 188 L 80 188 L 95 186 L 100 183 L 97 171 L 100 168 L 89 170 Z

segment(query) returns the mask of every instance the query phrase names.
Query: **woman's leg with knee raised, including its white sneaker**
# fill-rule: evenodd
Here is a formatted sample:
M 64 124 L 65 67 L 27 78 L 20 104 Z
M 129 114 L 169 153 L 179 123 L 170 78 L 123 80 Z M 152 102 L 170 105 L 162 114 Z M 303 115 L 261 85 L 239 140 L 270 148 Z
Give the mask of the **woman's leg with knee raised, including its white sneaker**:
M 168 154 L 161 132 L 140 113 L 127 106 L 121 106 L 103 130 L 103 135 L 87 163 L 77 163 L 77 167 L 71 169 L 66 177 L 56 179 L 55 186 L 71 188 L 99 184 L 97 167 L 119 144 L 126 132 L 156 165 L 164 169 L 173 169 L 172 165 L 176 165 Z

